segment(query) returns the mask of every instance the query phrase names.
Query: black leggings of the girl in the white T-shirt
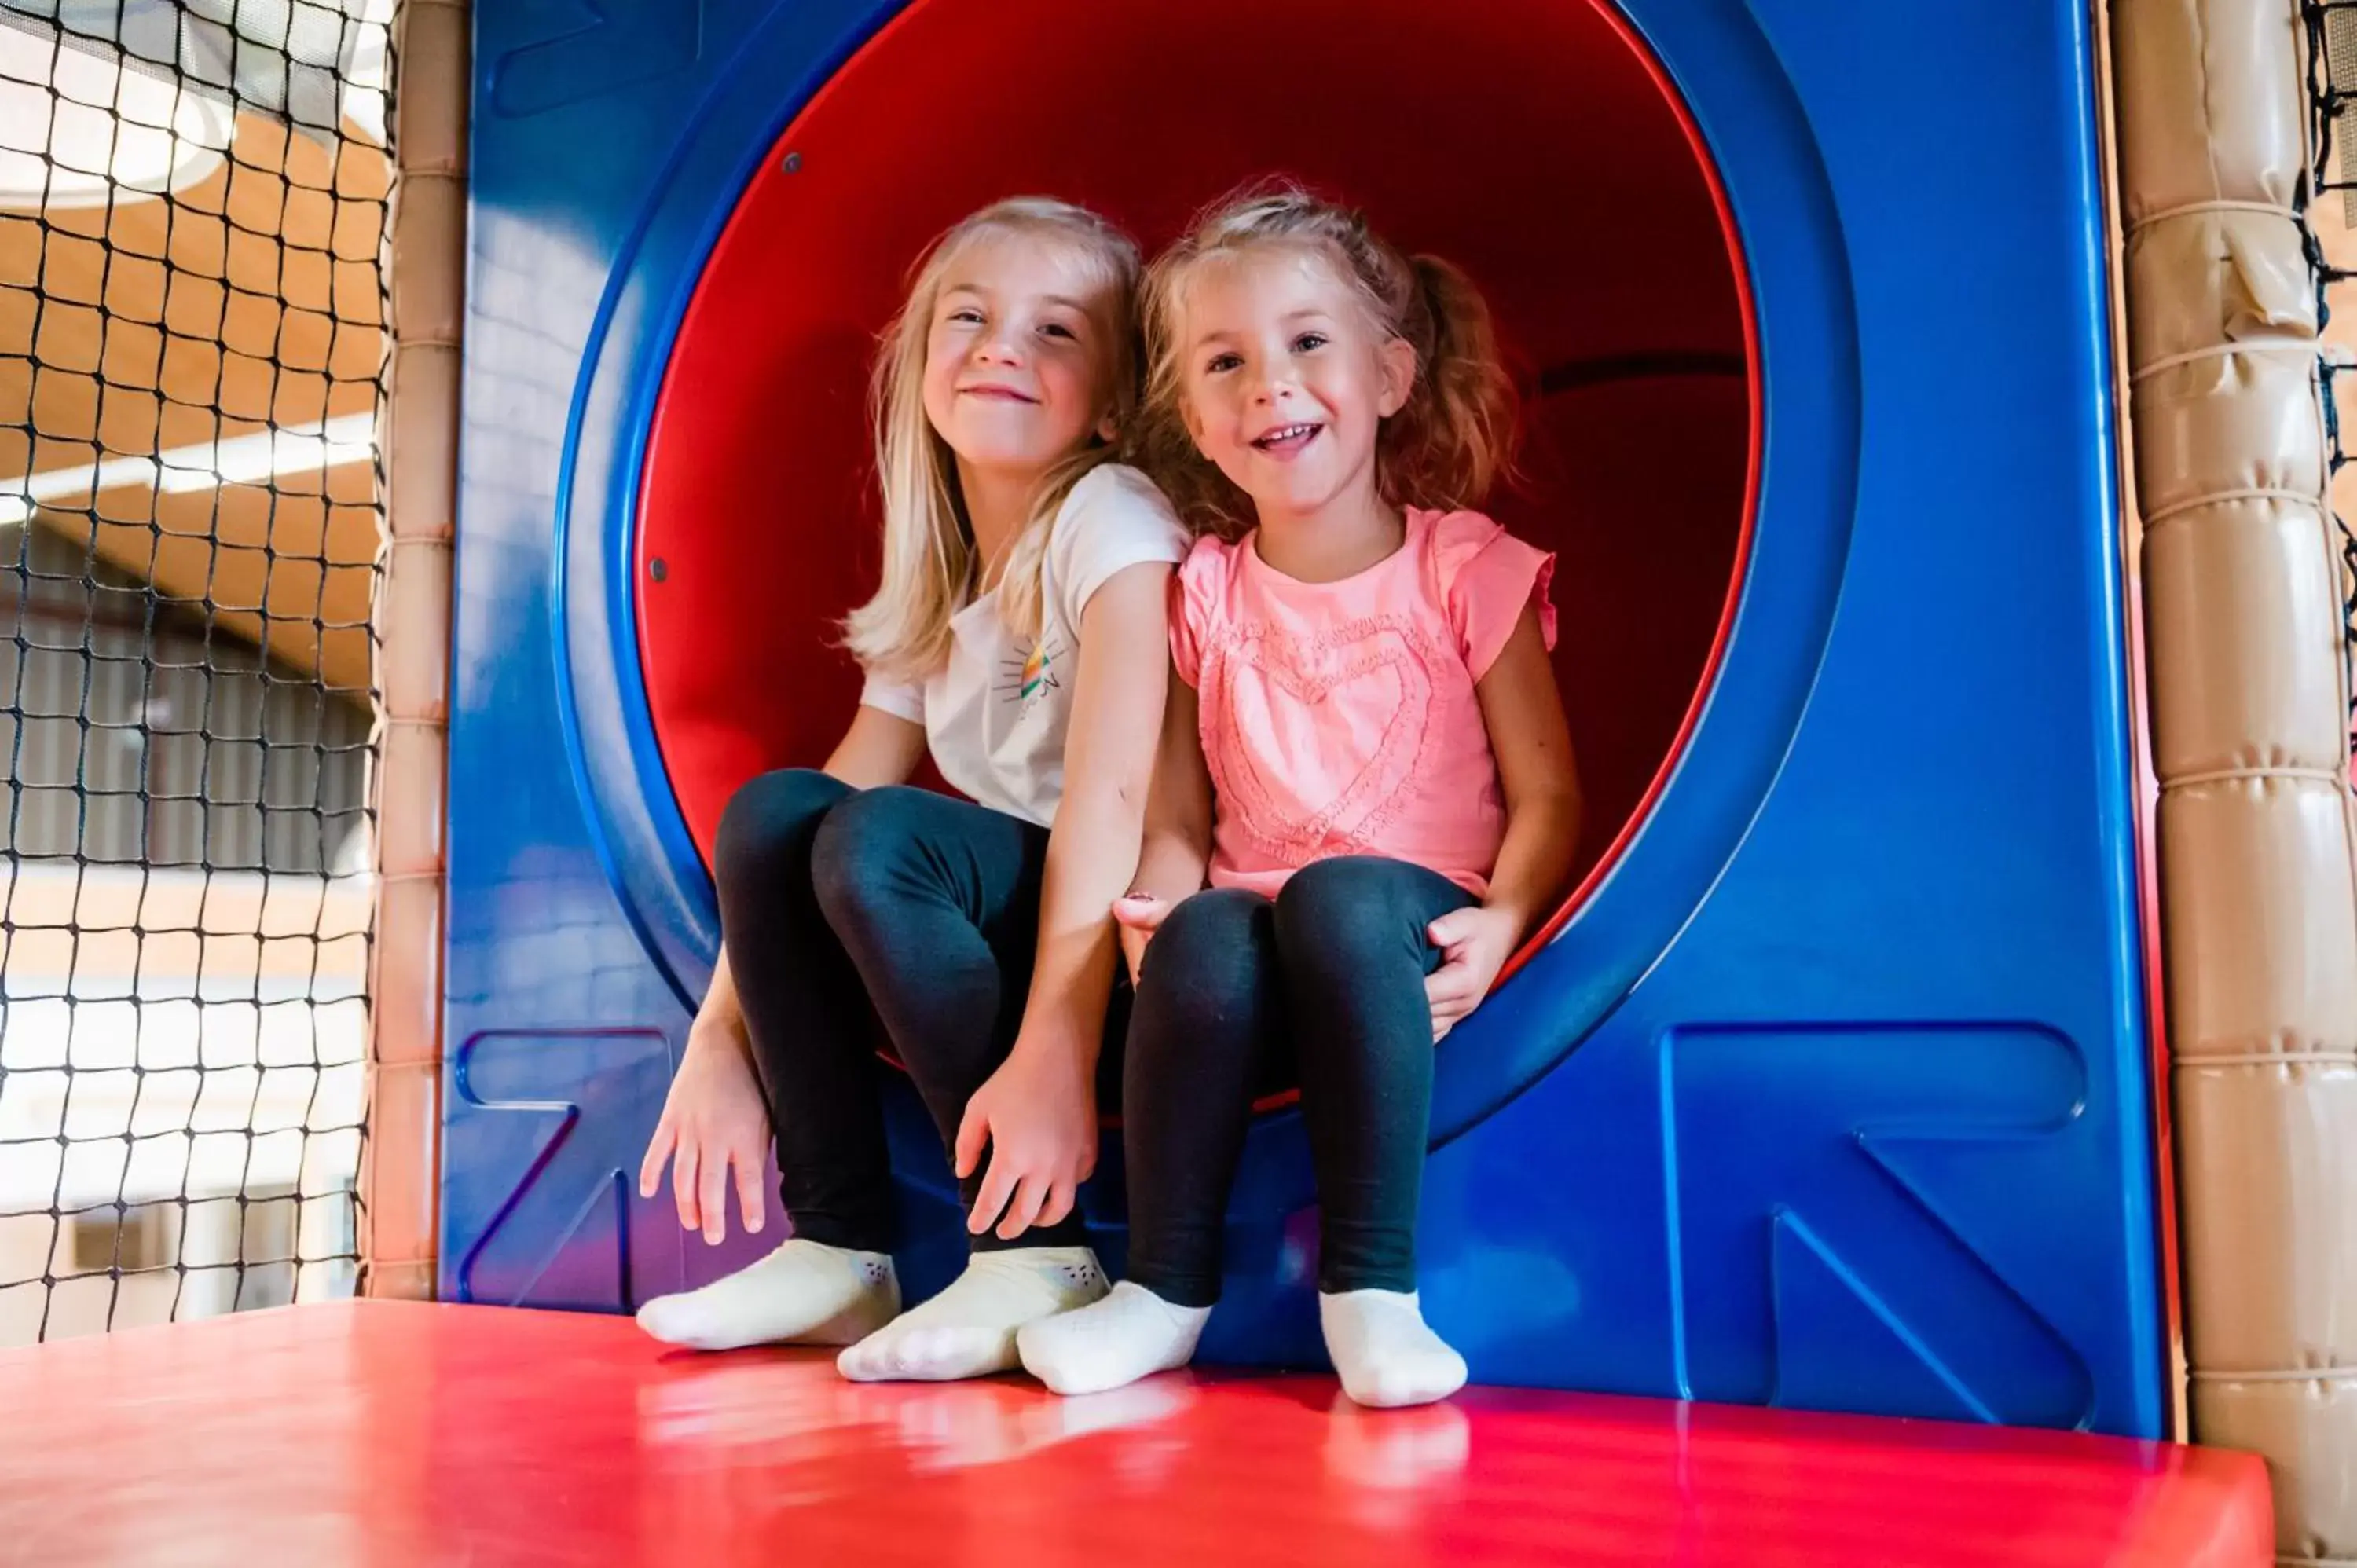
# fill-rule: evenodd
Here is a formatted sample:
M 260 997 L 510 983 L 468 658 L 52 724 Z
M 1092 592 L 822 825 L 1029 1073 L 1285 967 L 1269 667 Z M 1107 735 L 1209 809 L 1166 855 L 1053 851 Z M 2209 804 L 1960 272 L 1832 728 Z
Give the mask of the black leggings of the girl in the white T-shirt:
M 790 769 L 735 792 L 712 863 L 794 1236 L 886 1252 L 874 1049 L 889 1037 L 952 1148 L 1023 1023 L 1047 828 L 931 790 L 853 790 Z M 1124 1023 L 1117 986 L 1098 1085 L 1120 1082 Z M 978 1186 L 976 1174 L 959 1188 L 969 1210 Z M 1084 1245 L 1077 1210 L 1011 1243 L 973 1238 L 976 1250 Z

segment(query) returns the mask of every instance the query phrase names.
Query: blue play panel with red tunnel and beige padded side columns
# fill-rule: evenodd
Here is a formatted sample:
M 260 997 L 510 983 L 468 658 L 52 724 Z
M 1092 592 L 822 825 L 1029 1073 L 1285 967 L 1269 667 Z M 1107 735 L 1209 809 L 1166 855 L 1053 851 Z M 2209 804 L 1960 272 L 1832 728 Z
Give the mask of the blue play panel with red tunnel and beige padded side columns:
M 1303 83 L 1223 71 L 1226 2 L 412 0 L 365 1287 L 610 1311 L 750 1254 L 625 1172 L 709 969 L 719 804 L 849 714 L 898 269 L 1014 186 L 1153 243 L 1287 170 L 1494 297 L 1534 415 L 1499 512 L 1563 556 L 1586 879 L 1435 1101 L 1424 1287 L 1475 1377 L 2190 1436 L 2270 1460 L 2279 1561 L 2357 1556 L 2303 224 L 2338 9 L 1306 0 Z M 981 66 L 1056 113 L 912 111 Z M 1431 80 L 1483 92 L 1405 116 Z M 893 1132 L 926 1290 L 948 1181 L 907 1096 Z M 1263 1118 L 1207 1358 L 1318 1363 L 1306 1205 Z M 398 1332 L 351 1344 L 467 1330 Z

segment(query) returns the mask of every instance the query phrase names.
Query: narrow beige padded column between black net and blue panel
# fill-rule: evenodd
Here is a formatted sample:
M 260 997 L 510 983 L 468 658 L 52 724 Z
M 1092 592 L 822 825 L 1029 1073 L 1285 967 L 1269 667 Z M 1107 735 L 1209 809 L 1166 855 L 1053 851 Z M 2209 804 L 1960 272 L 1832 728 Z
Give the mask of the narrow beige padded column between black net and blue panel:
M 450 540 L 467 278 L 464 0 L 405 0 L 396 26 L 389 233 L 387 542 L 377 587 L 377 946 L 370 976 L 368 1294 L 434 1294 L 441 1134 L 443 816 Z

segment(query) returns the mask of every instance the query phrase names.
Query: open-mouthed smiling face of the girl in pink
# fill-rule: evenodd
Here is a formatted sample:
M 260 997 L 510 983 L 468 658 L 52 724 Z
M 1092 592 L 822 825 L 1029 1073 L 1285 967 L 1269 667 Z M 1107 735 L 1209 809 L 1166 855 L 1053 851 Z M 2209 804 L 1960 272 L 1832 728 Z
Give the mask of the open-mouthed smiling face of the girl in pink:
M 1188 434 L 1263 523 L 1376 505 L 1376 436 L 1417 354 L 1327 257 L 1256 245 L 1207 262 L 1178 297 L 1176 340 Z

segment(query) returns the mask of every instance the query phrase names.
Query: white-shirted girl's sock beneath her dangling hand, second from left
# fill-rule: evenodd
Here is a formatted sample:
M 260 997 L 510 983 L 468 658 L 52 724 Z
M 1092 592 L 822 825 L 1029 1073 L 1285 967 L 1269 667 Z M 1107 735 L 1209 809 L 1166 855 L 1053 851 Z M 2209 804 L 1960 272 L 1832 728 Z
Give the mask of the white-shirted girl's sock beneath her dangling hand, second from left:
M 1016 1365 L 1016 1330 L 1105 1294 L 1087 1247 L 976 1252 L 950 1287 L 834 1358 L 853 1382 L 952 1382 Z

